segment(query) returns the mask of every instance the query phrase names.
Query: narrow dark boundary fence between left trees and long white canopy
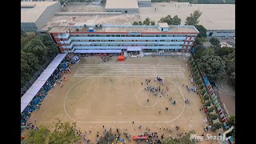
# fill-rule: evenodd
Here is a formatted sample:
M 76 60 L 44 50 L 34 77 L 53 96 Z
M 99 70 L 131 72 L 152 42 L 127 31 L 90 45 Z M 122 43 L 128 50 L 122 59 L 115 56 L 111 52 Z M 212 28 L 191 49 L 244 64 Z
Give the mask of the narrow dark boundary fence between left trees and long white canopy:
M 47 61 L 40 67 L 40 69 L 30 78 L 28 82 L 21 88 L 21 98 L 22 95 L 26 93 L 26 90 L 33 85 L 33 83 L 38 79 L 40 74 L 42 74 L 43 70 L 46 69 L 46 66 L 50 64 L 50 62 L 56 57 L 57 54 L 54 54 L 51 58 L 48 58 Z

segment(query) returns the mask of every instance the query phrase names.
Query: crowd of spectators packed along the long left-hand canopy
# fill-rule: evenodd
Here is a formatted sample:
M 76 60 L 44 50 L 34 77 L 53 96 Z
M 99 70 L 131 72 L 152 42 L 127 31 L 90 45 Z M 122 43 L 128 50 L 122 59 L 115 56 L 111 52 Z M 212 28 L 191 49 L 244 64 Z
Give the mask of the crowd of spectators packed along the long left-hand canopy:
M 21 117 L 21 130 L 24 129 L 34 129 L 38 130 L 36 126 L 32 124 L 32 122 L 28 122 L 27 120 L 30 118 L 30 114 L 34 110 L 39 110 L 41 106 L 41 102 L 44 98 L 46 98 L 46 95 L 48 94 L 48 91 L 52 89 L 54 86 L 56 86 L 56 83 L 60 84 L 60 87 L 63 85 L 63 80 L 67 81 L 67 78 L 65 74 L 69 74 L 71 72 L 70 66 L 72 63 L 75 63 L 75 60 L 72 56 L 66 55 L 66 57 L 62 60 L 62 62 L 58 65 L 58 68 L 54 70 L 54 73 L 51 74 L 50 78 L 46 81 L 44 86 L 42 86 L 41 90 L 38 91 L 38 94 L 36 94 L 33 98 L 33 100 L 29 103 L 28 106 L 26 106 L 26 109 L 22 112 Z M 34 122 L 36 122 L 36 119 L 34 119 Z M 27 124 L 26 124 L 27 123 Z

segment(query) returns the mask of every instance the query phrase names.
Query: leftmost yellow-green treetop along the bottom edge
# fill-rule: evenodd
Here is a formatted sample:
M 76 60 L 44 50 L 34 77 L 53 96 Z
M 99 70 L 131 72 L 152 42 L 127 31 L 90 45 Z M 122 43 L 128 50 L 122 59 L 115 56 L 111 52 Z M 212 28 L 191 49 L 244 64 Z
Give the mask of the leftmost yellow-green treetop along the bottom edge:
M 26 134 L 24 141 L 27 143 L 45 144 L 50 134 L 50 130 L 46 126 L 40 126 L 38 130 L 30 130 Z

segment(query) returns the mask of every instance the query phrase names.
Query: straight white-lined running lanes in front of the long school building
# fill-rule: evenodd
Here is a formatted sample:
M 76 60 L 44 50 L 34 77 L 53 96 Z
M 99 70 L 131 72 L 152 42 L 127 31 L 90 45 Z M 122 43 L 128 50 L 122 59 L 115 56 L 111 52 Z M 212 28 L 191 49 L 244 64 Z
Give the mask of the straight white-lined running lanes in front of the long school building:
M 158 69 L 158 72 L 156 71 Z M 103 71 L 98 74 L 98 72 Z M 154 71 L 154 72 L 153 72 Z M 183 77 L 180 65 L 150 65 L 150 64 L 81 64 L 74 77 L 119 77 L 119 76 L 178 76 Z

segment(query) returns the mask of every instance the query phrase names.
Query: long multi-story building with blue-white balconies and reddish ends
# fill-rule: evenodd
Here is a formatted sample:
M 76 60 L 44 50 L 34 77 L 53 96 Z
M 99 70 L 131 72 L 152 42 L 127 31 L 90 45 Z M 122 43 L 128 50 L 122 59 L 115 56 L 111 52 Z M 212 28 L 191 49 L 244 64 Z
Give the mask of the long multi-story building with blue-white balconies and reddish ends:
M 61 53 L 121 53 L 122 51 L 190 51 L 194 26 L 54 26 L 48 31 Z

